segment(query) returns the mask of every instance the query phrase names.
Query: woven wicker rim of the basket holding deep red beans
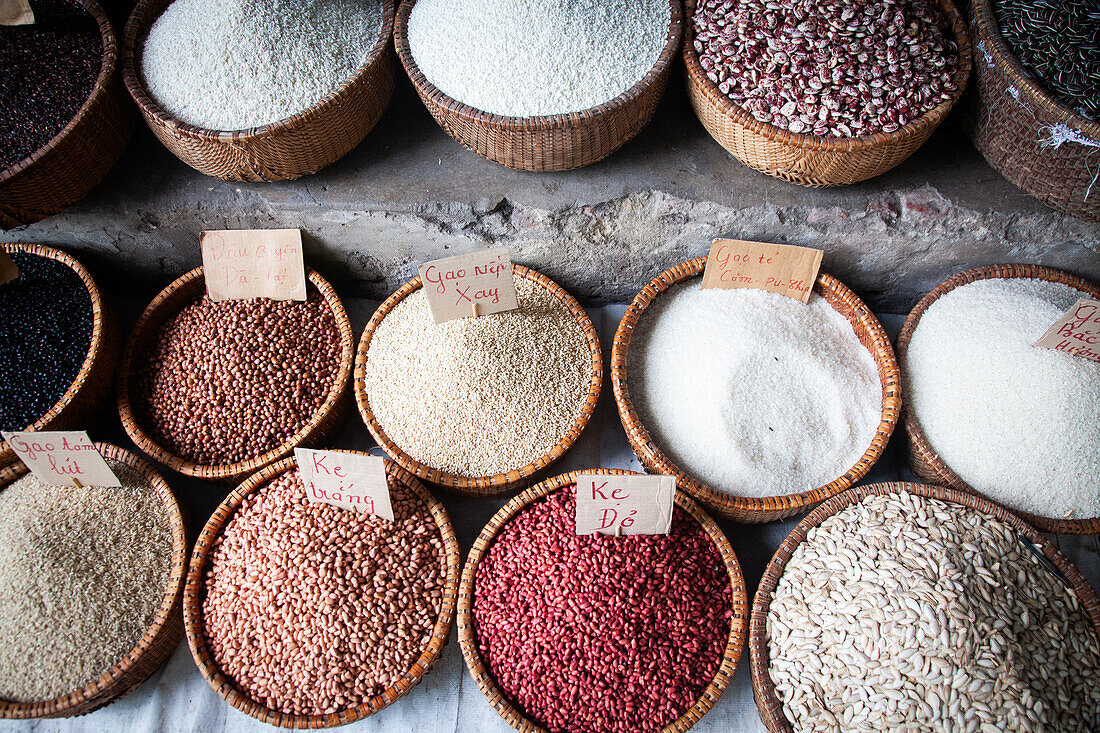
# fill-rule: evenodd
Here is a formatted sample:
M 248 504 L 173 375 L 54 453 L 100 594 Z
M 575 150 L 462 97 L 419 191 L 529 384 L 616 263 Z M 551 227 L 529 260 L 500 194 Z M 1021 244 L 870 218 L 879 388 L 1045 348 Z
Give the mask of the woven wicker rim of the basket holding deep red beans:
M 462 583 L 459 586 L 458 614 L 459 646 L 462 649 L 462 657 L 465 659 L 470 676 L 477 682 L 477 689 L 482 691 L 482 694 L 485 696 L 497 714 L 517 731 L 542 732 L 544 729 L 528 720 L 522 711 L 516 709 L 507 700 L 504 692 L 493 679 L 492 672 L 482 661 L 481 655 L 477 653 L 477 632 L 473 619 L 474 579 L 477 575 L 477 564 L 488 553 L 501 528 L 513 517 L 540 499 L 564 486 L 575 484 L 576 478 L 582 473 L 629 475 L 634 472 L 618 469 L 573 471 L 572 473 L 563 473 L 562 475 L 547 479 L 531 486 L 514 497 L 493 515 L 493 518 L 485 525 L 485 528 L 477 535 L 477 539 L 474 540 L 473 547 L 470 548 L 470 555 L 466 557 L 466 565 L 462 569 Z M 714 679 L 703 690 L 695 704 L 684 712 L 683 715 L 668 723 L 658 723 L 661 724 L 662 730 L 672 733 L 686 731 L 697 723 L 714 707 L 714 703 L 718 701 L 722 693 L 726 691 L 745 645 L 746 613 L 749 605 L 748 591 L 745 586 L 745 578 L 741 576 L 741 567 L 737 561 L 737 556 L 734 555 L 734 548 L 730 547 L 729 540 L 726 539 L 722 529 L 718 528 L 714 519 L 707 516 L 695 502 L 679 491 L 675 494 L 675 505 L 698 522 L 718 548 L 718 554 L 722 556 L 726 565 L 726 571 L 729 573 L 729 586 L 733 594 L 733 616 L 729 625 L 729 638 L 722 655 L 722 664 L 718 666 L 718 671 L 715 674 Z

